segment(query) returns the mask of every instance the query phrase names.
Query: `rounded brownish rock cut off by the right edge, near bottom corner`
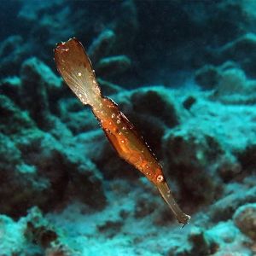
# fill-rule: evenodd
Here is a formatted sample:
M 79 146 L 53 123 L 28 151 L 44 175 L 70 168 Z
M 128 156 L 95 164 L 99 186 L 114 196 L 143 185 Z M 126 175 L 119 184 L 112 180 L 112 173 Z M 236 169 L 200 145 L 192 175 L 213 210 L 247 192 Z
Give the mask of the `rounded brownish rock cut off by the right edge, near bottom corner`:
M 233 219 L 243 234 L 256 241 L 256 203 L 239 207 L 234 213 Z

